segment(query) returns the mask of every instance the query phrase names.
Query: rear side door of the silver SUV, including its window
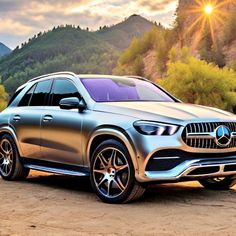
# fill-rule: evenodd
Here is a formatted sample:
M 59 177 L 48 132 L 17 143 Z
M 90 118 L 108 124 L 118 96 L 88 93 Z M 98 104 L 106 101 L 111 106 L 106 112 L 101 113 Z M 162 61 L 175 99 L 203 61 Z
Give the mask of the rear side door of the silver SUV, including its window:
M 14 108 L 10 124 L 14 127 L 21 152 L 27 158 L 41 158 L 40 121 L 48 99 L 52 81 L 33 85 Z

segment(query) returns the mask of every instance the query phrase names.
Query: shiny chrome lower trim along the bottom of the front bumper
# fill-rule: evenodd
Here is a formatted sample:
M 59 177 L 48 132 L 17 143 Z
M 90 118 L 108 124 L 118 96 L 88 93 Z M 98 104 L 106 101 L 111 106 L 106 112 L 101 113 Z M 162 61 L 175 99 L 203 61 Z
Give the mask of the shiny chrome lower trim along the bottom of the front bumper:
M 236 175 L 236 171 L 224 171 L 224 168 L 228 165 L 236 165 L 236 156 L 229 158 L 228 160 L 219 161 L 209 159 L 188 160 L 169 171 L 145 171 L 145 177 L 149 181 L 175 181 L 184 177 L 196 178 Z M 193 170 L 205 167 L 219 167 L 219 171 L 209 174 L 188 175 Z

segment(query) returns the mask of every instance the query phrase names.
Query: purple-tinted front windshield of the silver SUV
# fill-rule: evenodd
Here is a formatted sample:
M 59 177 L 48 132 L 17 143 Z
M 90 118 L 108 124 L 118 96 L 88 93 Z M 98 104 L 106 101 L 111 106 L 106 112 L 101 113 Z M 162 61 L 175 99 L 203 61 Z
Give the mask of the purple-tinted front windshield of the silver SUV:
M 96 102 L 157 101 L 174 102 L 152 83 L 133 78 L 81 78 Z

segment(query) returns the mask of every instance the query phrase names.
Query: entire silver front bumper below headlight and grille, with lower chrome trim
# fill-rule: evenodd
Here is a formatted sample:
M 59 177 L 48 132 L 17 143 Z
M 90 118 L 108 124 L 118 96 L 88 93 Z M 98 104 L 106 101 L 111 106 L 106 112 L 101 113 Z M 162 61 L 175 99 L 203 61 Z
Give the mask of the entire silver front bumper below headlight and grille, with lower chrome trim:
M 183 128 L 172 136 L 145 136 L 131 131 L 136 149 L 139 182 L 178 182 L 236 175 L 236 149 L 187 146 Z

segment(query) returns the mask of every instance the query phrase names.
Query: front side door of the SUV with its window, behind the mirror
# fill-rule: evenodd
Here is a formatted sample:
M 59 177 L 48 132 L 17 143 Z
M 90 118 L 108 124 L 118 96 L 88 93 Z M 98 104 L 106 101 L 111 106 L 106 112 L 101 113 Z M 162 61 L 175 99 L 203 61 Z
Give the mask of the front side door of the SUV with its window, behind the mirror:
M 41 151 L 44 160 L 69 165 L 83 165 L 81 154 L 82 114 L 78 109 L 62 110 L 63 98 L 78 97 L 78 89 L 69 79 L 54 79 L 51 103 L 41 119 Z

